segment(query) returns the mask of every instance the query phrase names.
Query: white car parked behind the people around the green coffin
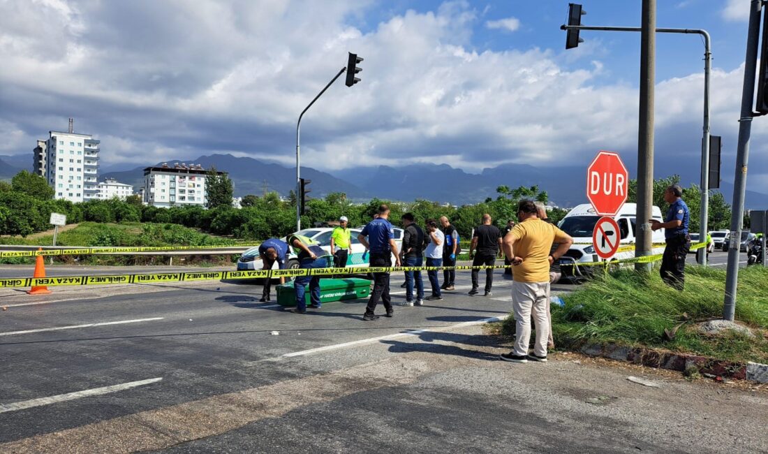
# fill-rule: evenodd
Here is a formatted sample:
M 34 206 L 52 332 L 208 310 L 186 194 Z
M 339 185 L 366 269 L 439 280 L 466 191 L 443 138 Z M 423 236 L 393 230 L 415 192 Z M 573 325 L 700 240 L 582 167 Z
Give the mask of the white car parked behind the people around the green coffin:
M 352 228 L 349 229 L 351 231 L 351 237 L 352 237 L 352 244 L 350 246 L 349 251 L 349 257 L 347 257 L 346 260 L 346 266 L 347 267 L 367 267 L 368 266 L 368 256 L 366 254 L 366 260 L 362 259 L 362 255 L 366 252 L 366 248 L 360 244 L 359 240 L 357 240 L 357 236 L 360 234 L 361 229 L 359 228 Z M 317 228 L 310 228 L 301 230 L 298 232 L 298 235 L 302 235 L 304 237 L 308 237 L 312 240 L 315 240 L 319 243 L 320 247 L 323 248 L 329 255 L 331 254 L 331 234 L 333 233 L 333 228 L 329 227 L 317 227 Z M 280 238 L 280 240 L 287 241 L 288 237 Z M 397 244 L 398 250 L 400 250 L 400 247 L 402 247 L 402 229 L 395 227 L 395 242 Z M 288 253 L 288 261 L 286 263 L 286 268 L 294 269 L 299 267 L 299 258 L 296 257 L 296 254 L 293 253 L 293 249 L 289 249 Z M 392 256 L 392 266 L 395 264 L 395 258 Z M 243 255 L 240 256 L 239 259 L 237 259 L 237 270 L 261 270 L 264 267 L 264 264 L 262 260 L 259 258 L 259 247 L 251 247 L 249 250 L 243 252 Z M 276 270 L 278 268 L 278 264 L 275 263 L 273 265 L 273 270 Z

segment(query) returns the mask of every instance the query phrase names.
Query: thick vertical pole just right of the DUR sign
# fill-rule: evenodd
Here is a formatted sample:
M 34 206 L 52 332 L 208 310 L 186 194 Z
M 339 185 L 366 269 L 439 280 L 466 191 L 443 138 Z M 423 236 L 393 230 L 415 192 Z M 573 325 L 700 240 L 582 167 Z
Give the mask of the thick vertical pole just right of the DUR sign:
M 656 0 L 643 0 L 640 31 L 640 122 L 637 129 L 637 235 L 635 257 L 652 253 L 650 217 L 654 204 L 654 86 L 656 77 Z M 634 269 L 650 273 L 650 263 Z

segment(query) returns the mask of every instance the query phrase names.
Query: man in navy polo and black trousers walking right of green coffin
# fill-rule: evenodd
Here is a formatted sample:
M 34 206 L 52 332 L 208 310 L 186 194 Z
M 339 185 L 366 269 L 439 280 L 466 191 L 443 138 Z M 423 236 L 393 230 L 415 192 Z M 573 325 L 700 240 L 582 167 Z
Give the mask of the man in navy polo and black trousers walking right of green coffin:
M 397 252 L 395 243 L 395 230 L 392 224 L 389 224 L 389 207 L 381 204 L 378 210 L 378 216 L 362 227 L 362 232 L 357 236 L 360 243 L 370 250 L 371 267 L 391 267 L 392 254 L 395 254 L 395 266 L 400 266 L 400 256 Z M 366 240 L 366 237 L 368 239 Z M 373 291 L 368 300 L 366 313 L 362 320 L 376 320 L 379 318 L 374 310 L 379 304 L 379 299 L 384 304 L 386 316 L 392 316 L 395 312 L 392 310 L 392 299 L 389 297 L 389 271 L 386 273 L 373 273 Z

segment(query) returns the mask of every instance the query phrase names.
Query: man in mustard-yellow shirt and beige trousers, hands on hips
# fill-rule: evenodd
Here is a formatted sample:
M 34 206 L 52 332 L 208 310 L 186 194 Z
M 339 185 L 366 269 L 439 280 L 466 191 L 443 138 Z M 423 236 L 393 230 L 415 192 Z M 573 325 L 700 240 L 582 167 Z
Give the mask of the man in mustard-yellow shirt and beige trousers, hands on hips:
M 501 358 L 514 363 L 547 361 L 549 336 L 549 267 L 568 252 L 574 240 L 554 224 L 538 218 L 532 200 L 518 204 L 520 222 L 504 237 L 503 247 L 515 270 L 512 275 L 512 310 L 515 313 L 515 350 Z M 553 243 L 559 246 L 550 254 Z M 536 324 L 534 354 L 528 355 L 531 341 L 531 311 Z

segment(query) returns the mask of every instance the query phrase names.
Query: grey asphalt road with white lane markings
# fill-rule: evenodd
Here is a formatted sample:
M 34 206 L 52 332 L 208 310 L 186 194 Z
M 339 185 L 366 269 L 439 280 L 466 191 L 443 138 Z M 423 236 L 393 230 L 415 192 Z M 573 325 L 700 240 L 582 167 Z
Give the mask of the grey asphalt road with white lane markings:
M 768 452 L 768 393 L 499 361 L 480 324 L 509 286 L 468 297 L 459 273 L 373 322 L 362 301 L 286 313 L 251 283 L 5 294 L 0 452 Z

